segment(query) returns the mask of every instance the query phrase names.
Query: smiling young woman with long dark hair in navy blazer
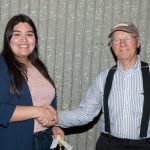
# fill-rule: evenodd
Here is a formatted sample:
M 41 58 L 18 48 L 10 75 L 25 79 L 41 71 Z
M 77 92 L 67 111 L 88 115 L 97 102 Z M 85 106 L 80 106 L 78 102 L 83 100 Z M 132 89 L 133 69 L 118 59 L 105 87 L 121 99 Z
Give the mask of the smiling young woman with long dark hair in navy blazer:
M 57 122 L 56 89 L 38 56 L 34 22 L 23 14 L 12 17 L 5 29 L 0 94 L 0 149 L 49 150 Z M 56 133 L 64 135 L 58 127 Z

